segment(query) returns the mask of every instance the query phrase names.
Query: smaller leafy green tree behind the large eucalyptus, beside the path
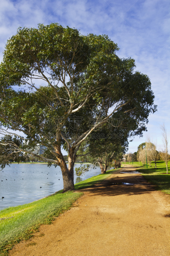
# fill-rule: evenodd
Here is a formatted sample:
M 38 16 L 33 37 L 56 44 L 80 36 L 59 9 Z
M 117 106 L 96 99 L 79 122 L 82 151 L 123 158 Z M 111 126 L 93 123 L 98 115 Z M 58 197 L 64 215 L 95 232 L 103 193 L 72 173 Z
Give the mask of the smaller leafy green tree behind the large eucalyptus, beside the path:
M 114 128 L 115 130 L 110 133 L 109 124 L 105 124 L 101 131 L 92 133 L 93 139 L 89 138 L 86 141 L 86 148 L 83 146 L 79 149 L 79 154 L 90 152 L 87 159 L 93 166 L 100 166 L 101 174 L 106 173 L 110 164 L 117 168 L 118 162 L 120 162 L 118 161 L 119 158 L 122 159 L 122 154 L 128 148 L 128 136 L 127 132 L 125 133 L 122 130 L 122 124 L 119 124 L 118 127 L 116 125 Z M 87 166 L 76 168 L 79 175 L 81 173 L 80 170 L 84 173 L 88 171 L 88 168 Z

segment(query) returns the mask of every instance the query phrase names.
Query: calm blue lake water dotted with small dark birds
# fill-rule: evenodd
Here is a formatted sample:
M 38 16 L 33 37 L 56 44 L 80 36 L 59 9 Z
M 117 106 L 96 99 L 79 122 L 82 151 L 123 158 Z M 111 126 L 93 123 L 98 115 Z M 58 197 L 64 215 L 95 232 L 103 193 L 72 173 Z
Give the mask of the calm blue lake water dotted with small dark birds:
M 76 164 L 76 167 L 79 166 Z M 74 183 L 100 173 L 97 167 L 82 177 L 74 174 Z M 59 166 L 49 168 L 47 164 L 11 164 L 0 171 L 0 210 L 31 203 L 60 189 L 63 189 L 63 178 Z

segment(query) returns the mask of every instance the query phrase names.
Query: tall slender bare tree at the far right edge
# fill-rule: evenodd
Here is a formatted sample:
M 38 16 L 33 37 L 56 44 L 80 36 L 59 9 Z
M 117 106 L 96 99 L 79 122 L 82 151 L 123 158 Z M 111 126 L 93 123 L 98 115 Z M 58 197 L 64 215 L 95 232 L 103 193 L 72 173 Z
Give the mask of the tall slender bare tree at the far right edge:
M 162 160 L 166 163 L 166 173 L 168 173 L 169 153 L 168 153 L 168 139 L 167 139 L 165 124 L 161 125 L 160 129 L 162 130 L 162 141 L 164 145 L 164 148 L 162 149 L 160 156 Z

